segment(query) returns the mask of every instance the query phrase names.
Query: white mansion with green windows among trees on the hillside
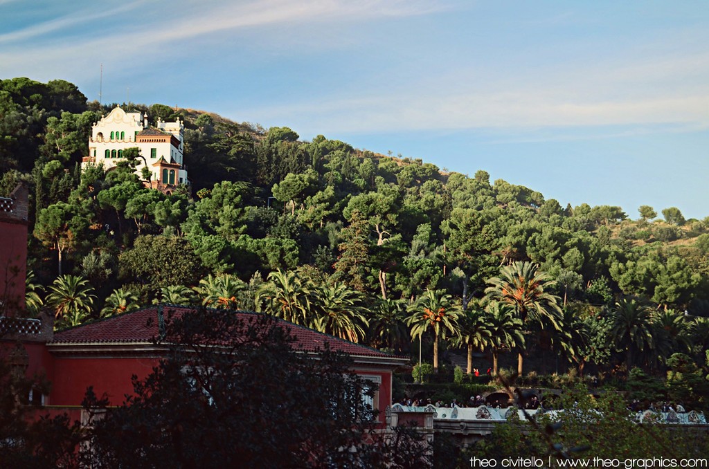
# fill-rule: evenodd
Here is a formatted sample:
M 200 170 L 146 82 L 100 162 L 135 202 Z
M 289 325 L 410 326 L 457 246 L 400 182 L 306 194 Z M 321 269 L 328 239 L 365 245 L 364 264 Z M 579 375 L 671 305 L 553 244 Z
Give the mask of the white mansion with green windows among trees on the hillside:
M 146 186 L 168 189 L 177 184 L 189 184 L 187 170 L 182 162 L 184 150 L 184 123 L 163 122 L 157 119 L 157 127 L 147 124 L 147 113 L 126 113 L 116 107 L 94 124 L 89 138 L 89 157 L 82 162 L 82 169 L 89 164 L 103 164 L 106 171 L 116 167 L 123 158 L 123 151 L 138 147 L 143 158 L 135 168 L 143 179 L 143 167 L 150 169 L 150 181 Z

